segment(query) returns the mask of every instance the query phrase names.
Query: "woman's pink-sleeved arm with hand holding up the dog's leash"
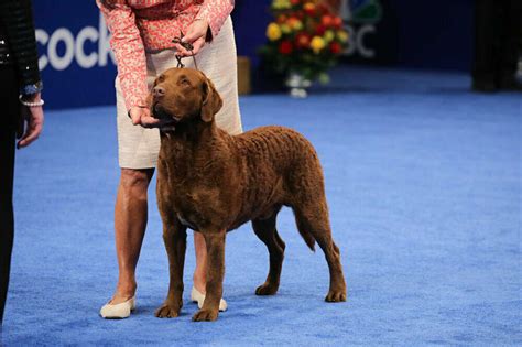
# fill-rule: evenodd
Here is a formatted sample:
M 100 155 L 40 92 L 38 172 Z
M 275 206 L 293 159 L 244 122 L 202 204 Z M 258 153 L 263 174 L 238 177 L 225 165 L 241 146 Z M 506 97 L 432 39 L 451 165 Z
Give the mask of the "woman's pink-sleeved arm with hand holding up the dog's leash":
M 233 10 L 233 0 L 205 0 L 197 13 L 194 22 L 187 30 L 183 42 L 188 42 L 194 46 L 194 54 L 197 54 L 205 42 L 213 41 L 221 30 L 222 24 Z M 192 52 L 177 44 L 176 50 L 181 56 L 189 56 Z

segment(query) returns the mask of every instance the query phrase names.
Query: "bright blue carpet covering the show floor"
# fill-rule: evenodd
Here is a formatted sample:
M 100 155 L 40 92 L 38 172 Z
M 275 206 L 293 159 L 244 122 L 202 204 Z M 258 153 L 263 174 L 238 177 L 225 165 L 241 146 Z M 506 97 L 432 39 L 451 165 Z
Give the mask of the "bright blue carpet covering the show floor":
M 460 74 L 337 71 L 309 98 L 241 98 L 246 129 L 283 124 L 317 148 L 347 303 L 328 304 L 323 253 L 280 215 L 278 295 L 253 291 L 268 254 L 249 225 L 228 236 L 229 311 L 157 319 L 167 262 L 151 189 L 138 311 L 104 321 L 117 279 L 115 108 L 47 112 L 18 152 L 17 231 L 2 341 L 28 345 L 521 345 L 520 94 L 468 93 Z M 186 288 L 194 249 L 187 250 Z

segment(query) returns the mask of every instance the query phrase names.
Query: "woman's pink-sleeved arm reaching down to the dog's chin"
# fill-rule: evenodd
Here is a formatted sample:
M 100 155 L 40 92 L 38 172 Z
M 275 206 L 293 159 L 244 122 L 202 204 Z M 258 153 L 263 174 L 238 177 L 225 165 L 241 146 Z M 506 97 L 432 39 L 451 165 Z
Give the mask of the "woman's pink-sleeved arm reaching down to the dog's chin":
M 111 4 L 107 4 L 107 2 L 111 2 Z M 143 41 L 135 25 L 134 12 L 124 0 L 96 0 L 96 3 L 112 34 L 110 46 L 116 55 L 118 76 L 127 110 L 143 109 L 146 107 L 145 98 L 149 93 L 146 62 Z M 131 115 L 133 113 L 132 111 Z M 135 117 L 132 117 L 132 121 L 134 124 L 140 123 L 139 118 Z

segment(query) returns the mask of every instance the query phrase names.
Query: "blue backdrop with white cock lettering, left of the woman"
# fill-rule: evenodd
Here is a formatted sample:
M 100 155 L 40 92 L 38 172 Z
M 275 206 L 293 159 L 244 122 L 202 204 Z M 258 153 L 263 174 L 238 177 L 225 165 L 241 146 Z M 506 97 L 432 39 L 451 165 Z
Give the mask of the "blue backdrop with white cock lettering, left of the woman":
M 44 98 L 50 108 L 115 102 L 108 32 L 94 1 L 33 1 Z

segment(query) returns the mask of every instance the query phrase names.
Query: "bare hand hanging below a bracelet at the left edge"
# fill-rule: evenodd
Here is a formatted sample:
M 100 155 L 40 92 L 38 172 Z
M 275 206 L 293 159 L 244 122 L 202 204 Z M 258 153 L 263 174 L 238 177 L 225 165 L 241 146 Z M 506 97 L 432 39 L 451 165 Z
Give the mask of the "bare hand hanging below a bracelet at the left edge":
M 40 100 L 40 93 L 28 99 L 30 102 L 39 102 Z M 42 133 L 44 123 L 42 106 L 26 107 L 22 105 L 20 112 L 22 119 L 17 133 L 17 138 L 20 139 L 17 143 L 18 149 L 28 147 L 34 142 Z

